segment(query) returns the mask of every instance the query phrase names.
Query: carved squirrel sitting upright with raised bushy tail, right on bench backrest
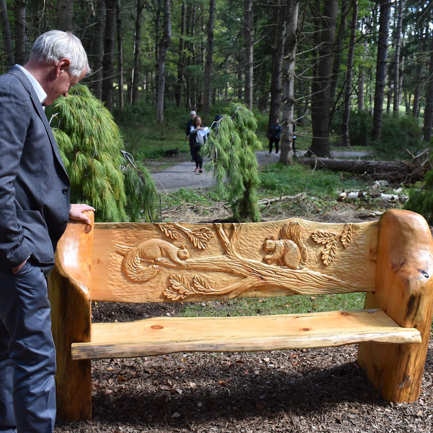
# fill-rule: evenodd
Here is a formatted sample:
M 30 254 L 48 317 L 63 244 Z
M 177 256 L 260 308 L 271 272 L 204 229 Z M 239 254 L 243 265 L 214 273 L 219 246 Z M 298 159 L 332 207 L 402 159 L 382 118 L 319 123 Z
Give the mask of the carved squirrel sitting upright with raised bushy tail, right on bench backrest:
M 302 269 L 308 261 L 308 251 L 302 240 L 302 226 L 297 221 L 285 224 L 280 230 L 281 239 L 268 236 L 263 251 L 270 251 L 263 262 L 270 265 L 277 262 L 282 268 Z

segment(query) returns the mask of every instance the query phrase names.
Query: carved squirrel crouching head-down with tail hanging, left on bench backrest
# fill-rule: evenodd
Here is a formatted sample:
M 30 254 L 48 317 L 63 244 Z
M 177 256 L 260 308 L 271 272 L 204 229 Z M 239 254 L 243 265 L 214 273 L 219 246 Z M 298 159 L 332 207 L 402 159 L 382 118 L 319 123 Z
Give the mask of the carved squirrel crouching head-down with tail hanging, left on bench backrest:
M 123 254 L 122 269 L 133 281 L 149 281 L 158 275 L 161 268 L 157 265 L 167 257 L 177 265 L 186 267 L 190 252 L 187 245 L 180 248 L 163 239 L 148 239 L 135 247 L 116 245 L 116 252 Z M 155 260 L 155 265 L 143 266 L 141 259 Z

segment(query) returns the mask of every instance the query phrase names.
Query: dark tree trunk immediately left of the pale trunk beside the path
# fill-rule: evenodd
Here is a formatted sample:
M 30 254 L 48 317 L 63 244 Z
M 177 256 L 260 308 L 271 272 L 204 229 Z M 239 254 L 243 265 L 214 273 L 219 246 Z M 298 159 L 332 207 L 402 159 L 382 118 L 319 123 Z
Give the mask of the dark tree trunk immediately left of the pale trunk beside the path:
M 283 71 L 284 42 L 286 37 L 286 16 L 281 13 L 282 8 L 280 0 L 274 6 L 272 13 L 272 23 L 275 26 L 273 49 L 272 49 L 272 73 L 271 73 L 271 103 L 269 106 L 268 131 L 275 122 L 275 118 L 280 116 L 281 111 L 281 93 L 282 83 L 281 76 Z

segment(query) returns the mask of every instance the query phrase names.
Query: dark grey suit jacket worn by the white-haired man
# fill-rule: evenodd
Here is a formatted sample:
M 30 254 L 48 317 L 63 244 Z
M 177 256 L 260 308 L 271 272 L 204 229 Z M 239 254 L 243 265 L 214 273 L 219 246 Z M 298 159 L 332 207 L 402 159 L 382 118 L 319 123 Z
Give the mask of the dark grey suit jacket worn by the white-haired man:
M 68 223 L 70 184 L 26 74 L 0 76 L 0 268 L 28 257 L 48 275 Z

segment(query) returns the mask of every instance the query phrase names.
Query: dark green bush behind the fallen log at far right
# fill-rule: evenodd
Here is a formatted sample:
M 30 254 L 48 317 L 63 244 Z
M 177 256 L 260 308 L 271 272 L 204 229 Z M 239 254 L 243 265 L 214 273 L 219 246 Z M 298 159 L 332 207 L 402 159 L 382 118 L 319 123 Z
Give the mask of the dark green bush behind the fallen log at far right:
M 410 152 L 425 147 L 417 119 L 411 115 L 388 114 L 382 119 L 381 138 L 374 143 L 375 156 L 383 159 L 408 159 Z

